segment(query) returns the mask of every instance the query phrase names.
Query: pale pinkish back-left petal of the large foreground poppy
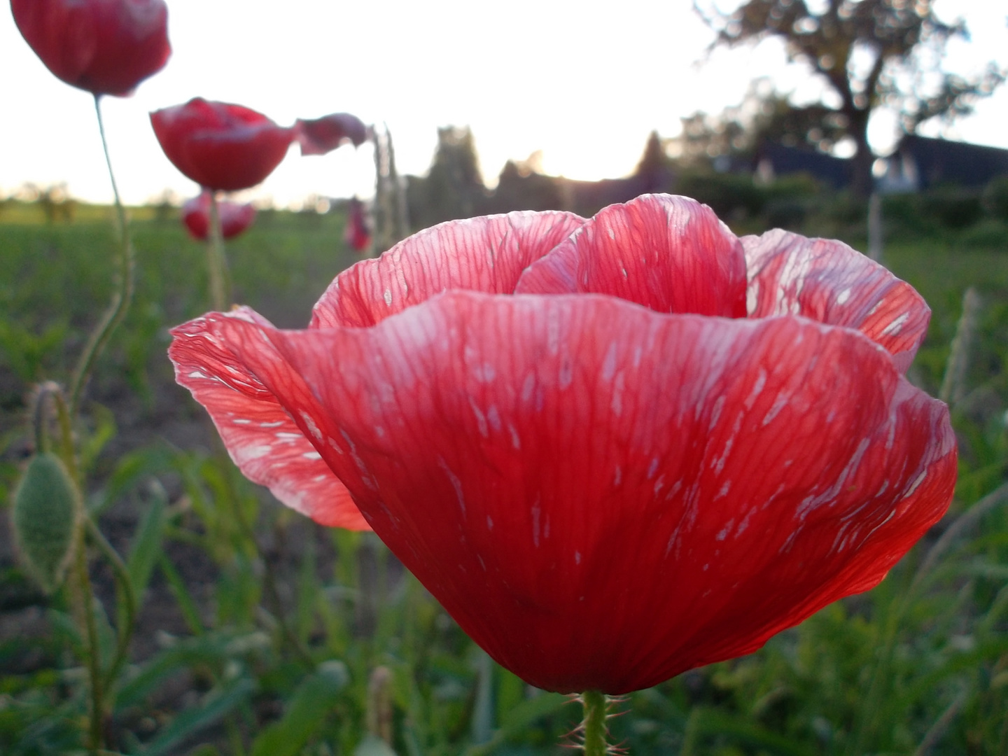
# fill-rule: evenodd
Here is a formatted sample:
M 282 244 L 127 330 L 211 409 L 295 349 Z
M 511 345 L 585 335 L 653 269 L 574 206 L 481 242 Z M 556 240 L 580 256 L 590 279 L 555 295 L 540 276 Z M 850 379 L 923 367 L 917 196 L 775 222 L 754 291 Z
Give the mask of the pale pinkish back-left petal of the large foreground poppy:
M 583 223 L 573 213 L 518 212 L 426 229 L 337 276 L 308 328 L 373 326 L 447 289 L 509 294 L 526 267 Z

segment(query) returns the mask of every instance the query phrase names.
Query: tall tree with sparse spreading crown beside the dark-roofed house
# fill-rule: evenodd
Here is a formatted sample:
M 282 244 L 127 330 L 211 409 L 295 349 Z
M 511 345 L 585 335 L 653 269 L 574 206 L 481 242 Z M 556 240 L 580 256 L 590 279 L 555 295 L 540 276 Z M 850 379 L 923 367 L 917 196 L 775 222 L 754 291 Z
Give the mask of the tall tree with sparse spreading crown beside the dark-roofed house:
M 789 59 L 808 66 L 839 96 L 839 107 L 823 102 L 792 111 L 804 124 L 821 117 L 824 134 L 840 129 L 854 140 L 853 188 L 861 196 L 871 191 L 868 120 L 875 109 L 891 108 L 912 133 L 930 118 L 969 113 L 1005 80 L 994 62 L 973 77 L 941 70 L 949 40 L 968 32 L 963 21 L 938 19 L 931 0 L 746 0 L 729 14 L 705 10 L 699 0 L 694 7 L 718 33 L 712 46 L 780 37 Z

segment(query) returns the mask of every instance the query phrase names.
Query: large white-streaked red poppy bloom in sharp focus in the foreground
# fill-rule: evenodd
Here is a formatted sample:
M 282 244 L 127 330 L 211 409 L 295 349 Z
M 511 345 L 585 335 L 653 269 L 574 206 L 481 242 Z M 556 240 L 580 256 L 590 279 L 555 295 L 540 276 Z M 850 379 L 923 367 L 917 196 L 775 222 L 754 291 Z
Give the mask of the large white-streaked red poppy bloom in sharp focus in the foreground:
M 436 226 L 305 331 L 210 313 L 170 355 L 249 478 L 369 524 L 528 682 L 620 694 L 872 588 L 941 516 L 927 320 L 840 242 L 645 196 Z

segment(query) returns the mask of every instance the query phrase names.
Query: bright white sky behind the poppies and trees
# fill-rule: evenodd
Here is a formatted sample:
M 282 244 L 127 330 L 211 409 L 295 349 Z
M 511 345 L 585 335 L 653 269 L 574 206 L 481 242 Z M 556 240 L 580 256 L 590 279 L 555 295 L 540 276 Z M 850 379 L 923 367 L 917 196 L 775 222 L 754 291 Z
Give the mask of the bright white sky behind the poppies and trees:
M 971 45 L 951 48 L 950 67 L 976 71 L 999 55 L 1008 64 L 1003 0 L 937 2 L 943 17 L 962 14 L 973 32 Z M 133 97 L 103 101 L 129 203 L 166 188 L 196 194 L 161 153 L 147 118 L 195 96 L 246 105 L 282 125 L 339 111 L 385 122 L 403 173 L 427 168 L 438 126 L 469 125 L 493 180 L 505 160 L 539 149 L 550 173 L 625 175 L 652 129 L 675 135 L 681 116 L 738 103 L 758 75 L 785 91 L 814 91 L 785 67 L 775 44 L 718 52 L 698 68 L 711 33 L 687 0 L 623 0 L 618 11 L 568 0 L 167 3 L 173 53 L 166 68 Z M 74 197 L 108 202 L 90 95 L 45 70 L 7 2 L 0 2 L 0 197 L 26 181 L 66 181 Z M 947 134 L 1008 147 L 1006 123 L 1002 88 Z M 876 124 L 874 139 L 884 148 L 884 124 Z M 366 147 L 306 158 L 293 147 L 250 196 L 287 205 L 309 194 L 366 196 L 372 184 Z

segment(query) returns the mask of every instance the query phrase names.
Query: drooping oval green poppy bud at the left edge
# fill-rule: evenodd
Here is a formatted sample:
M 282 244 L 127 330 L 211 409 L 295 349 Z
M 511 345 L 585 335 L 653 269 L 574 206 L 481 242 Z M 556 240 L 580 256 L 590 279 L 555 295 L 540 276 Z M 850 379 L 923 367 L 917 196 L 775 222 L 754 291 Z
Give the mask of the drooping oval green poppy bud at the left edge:
M 78 492 L 59 458 L 32 458 L 14 494 L 14 535 L 26 566 L 46 593 L 62 583 L 74 550 Z

